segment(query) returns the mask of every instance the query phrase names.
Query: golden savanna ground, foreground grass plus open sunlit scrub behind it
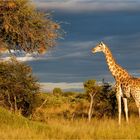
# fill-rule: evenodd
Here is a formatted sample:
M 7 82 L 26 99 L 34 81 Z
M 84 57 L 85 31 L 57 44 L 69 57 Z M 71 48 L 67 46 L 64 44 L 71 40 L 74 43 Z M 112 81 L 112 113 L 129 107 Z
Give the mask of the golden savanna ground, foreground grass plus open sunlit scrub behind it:
M 46 103 L 41 108 L 35 107 L 43 99 Z M 0 139 L 140 139 L 140 120 L 134 102 L 129 106 L 132 112 L 129 123 L 122 115 L 119 126 L 117 116 L 93 117 L 89 122 L 82 115 L 89 103 L 81 93 L 38 94 L 34 101 L 36 109 L 28 117 L 0 108 Z

